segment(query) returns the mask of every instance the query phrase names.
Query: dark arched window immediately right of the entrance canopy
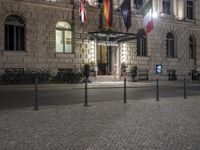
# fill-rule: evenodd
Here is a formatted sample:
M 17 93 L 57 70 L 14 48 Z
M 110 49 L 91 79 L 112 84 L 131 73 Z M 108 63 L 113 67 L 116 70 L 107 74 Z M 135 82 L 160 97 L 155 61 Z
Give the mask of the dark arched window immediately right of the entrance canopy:
M 144 29 L 138 31 L 137 56 L 147 56 L 147 36 Z

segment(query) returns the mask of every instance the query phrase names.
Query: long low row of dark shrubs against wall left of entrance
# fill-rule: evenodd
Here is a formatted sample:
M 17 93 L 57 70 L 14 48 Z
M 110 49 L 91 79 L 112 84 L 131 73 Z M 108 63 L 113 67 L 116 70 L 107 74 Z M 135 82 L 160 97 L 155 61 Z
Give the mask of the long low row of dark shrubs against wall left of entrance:
M 0 84 L 34 84 L 36 78 L 39 83 L 81 83 L 83 77 L 83 73 L 75 69 L 59 71 L 55 76 L 50 75 L 48 70 L 10 69 L 0 77 Z

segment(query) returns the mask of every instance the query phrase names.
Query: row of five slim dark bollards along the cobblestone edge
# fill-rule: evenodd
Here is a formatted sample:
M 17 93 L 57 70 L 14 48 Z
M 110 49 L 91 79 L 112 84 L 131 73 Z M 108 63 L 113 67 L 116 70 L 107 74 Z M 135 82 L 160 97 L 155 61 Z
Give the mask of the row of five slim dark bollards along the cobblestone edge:
M 126 85 L 126 78 L 124 78 L 124 103 L 127 103 L 127 85 Z M 186 79 L 184 78 L 183 83 L 183 89 L 184 89 L 184 99 L 187 99 L 187 92 L 186 92 Z M 156 101 L 159 101 L 159 79 L 156 79 Z M 85 81 L 85 101 L 84 106 L 88 106 L 88 83 Z M 34 110 L 39 110 L 38 107 L 38 79 L 35 79 L 35 98 L 34 98 Z

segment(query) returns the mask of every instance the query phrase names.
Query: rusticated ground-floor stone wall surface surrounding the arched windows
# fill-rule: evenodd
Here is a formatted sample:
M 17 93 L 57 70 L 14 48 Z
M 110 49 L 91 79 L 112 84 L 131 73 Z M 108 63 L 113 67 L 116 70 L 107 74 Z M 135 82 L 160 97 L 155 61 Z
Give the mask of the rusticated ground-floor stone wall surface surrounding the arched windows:
M 199 3 L 199 1 L 197 1 Z M 197 5 L 199 14 L 200 6 Z M 0 70 L 4 68 L 41 68 L 55 73 L 58 68 L 80 68 L 84 63 L 91 63 L 91 47 L 94 42 L 88 32 L 99 28 L 100 9 L 88 8 L 88 20 L 85 24 L 80 22 L 78 9 L 73 10 L 71 4 L 60 5 L 39 1 L 0 1 Z M 4 20 L 10 14 L 18 14 L 26 22 L 26 51 L 15 52 L 4 50 Z M 126 32 L 120 12 L 114 12 L 113 27 L 117 31 Z M 150 79 L 155 79 L 155 65 L 163 65 L 163 74 L 168 69 L 176 69 L 178 74 L 187 74 L 194 68 L 193 60 L 189 57 L 188 39 L 193 35 L 197 41 L 197 67 L 200 68 L 200 27 L 199 17 L 194 22 L 176 20 L 175 18 L 160 16 L 154 19 L 154 30 L 148 34 L 148 56 L 138 57 L 136 53 L 137 42 L 128 42 L 127 65 L 137 65 L 139 69 L 149 71 Z M 74 53 L 55 53 L 55 26 L 58 21 L 67 20 L 73 28 Z M 143 28 L 142 17 L 133 14 L 130 33 L 137 33 Z M 166 57 L 165 37 L 168 32 L 175 35 L 177 58 Z M 96 45 L 96 44 L 95 44 Z M 120 46 L 118 47 L 120 49 Z M 119 62 L 120 63 L 120 62 Z M 118 66 L 119 67 L 119 66 Z M 119 69 L 119 68 L 118 68 Z M 163 77 L 165 79 L 167 77 Z

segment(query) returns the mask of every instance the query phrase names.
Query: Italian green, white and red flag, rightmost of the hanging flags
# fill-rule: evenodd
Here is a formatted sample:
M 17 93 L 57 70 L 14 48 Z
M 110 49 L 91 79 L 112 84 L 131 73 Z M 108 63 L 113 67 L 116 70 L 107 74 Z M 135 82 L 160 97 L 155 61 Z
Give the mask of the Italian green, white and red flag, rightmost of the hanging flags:
M 142 16 L 144 18 L 144 25 L 146 33 L 153 30 L 153 17 L 152 17 L 152 0 L 149 0 L 146 5 L 142 8 Z

